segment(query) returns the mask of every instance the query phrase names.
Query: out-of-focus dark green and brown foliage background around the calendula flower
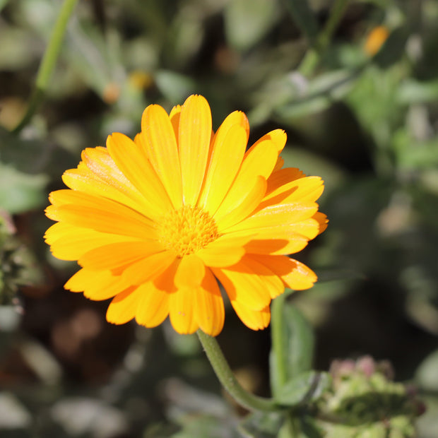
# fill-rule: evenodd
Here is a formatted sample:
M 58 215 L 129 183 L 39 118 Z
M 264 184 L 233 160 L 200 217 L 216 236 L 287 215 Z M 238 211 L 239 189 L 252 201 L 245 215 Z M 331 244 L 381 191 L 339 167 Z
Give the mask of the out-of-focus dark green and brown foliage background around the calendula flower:
M 61 4 L 0 0 L 0 436 L 240 436 L 196 336 L 107 324 L 106 302 L 63 290 L 77 265 L 42 239 L 47 194 L 83 148 L 199 93 L 215 129 L 235 109 L 250 143 L 285 129 L 285 165 L 326 182 L 329 228 L 297 254 L 319 283 L 294 295 L 316 369 L 390 360 L 427 404 L 418 436 L 436 438 L 438 2 L 78 1 L 17 130 Z M 269 329 L 227 312 L 218 341 L 268 395 Z

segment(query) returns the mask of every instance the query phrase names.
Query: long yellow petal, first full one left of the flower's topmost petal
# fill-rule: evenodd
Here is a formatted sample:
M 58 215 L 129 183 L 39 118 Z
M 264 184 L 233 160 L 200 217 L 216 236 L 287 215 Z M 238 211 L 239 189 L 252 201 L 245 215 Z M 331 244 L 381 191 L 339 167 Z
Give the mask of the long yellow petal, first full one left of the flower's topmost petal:
M 148 158 L 174 208 L 181 207 L 182 183 L 177 140 L 169 116 L 160 105 L 149 105 L 144 110 L 141 135 L 144 137 Z

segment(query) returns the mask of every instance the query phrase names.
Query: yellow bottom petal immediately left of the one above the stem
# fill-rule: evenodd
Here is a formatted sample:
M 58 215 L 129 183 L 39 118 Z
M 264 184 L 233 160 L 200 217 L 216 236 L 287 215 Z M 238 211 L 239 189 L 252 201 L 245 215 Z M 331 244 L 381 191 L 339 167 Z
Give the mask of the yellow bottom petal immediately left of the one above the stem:
M 199 329 L 194 308 L 196 293 L 193 289 L 183 288 L 169 296 L 169 316 L 172 327 L 178 333 L 190 334 Z

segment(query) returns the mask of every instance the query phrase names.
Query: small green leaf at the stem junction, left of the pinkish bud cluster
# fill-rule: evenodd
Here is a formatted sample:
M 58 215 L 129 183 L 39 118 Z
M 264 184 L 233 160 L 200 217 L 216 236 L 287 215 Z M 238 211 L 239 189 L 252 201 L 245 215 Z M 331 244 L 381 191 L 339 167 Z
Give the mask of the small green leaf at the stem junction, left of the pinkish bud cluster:
M 300 406 L 318 400 L 329 389 L 331 377 L 326 372 L 308 371 L 290 379 L 276 395 L 283 406 Z

